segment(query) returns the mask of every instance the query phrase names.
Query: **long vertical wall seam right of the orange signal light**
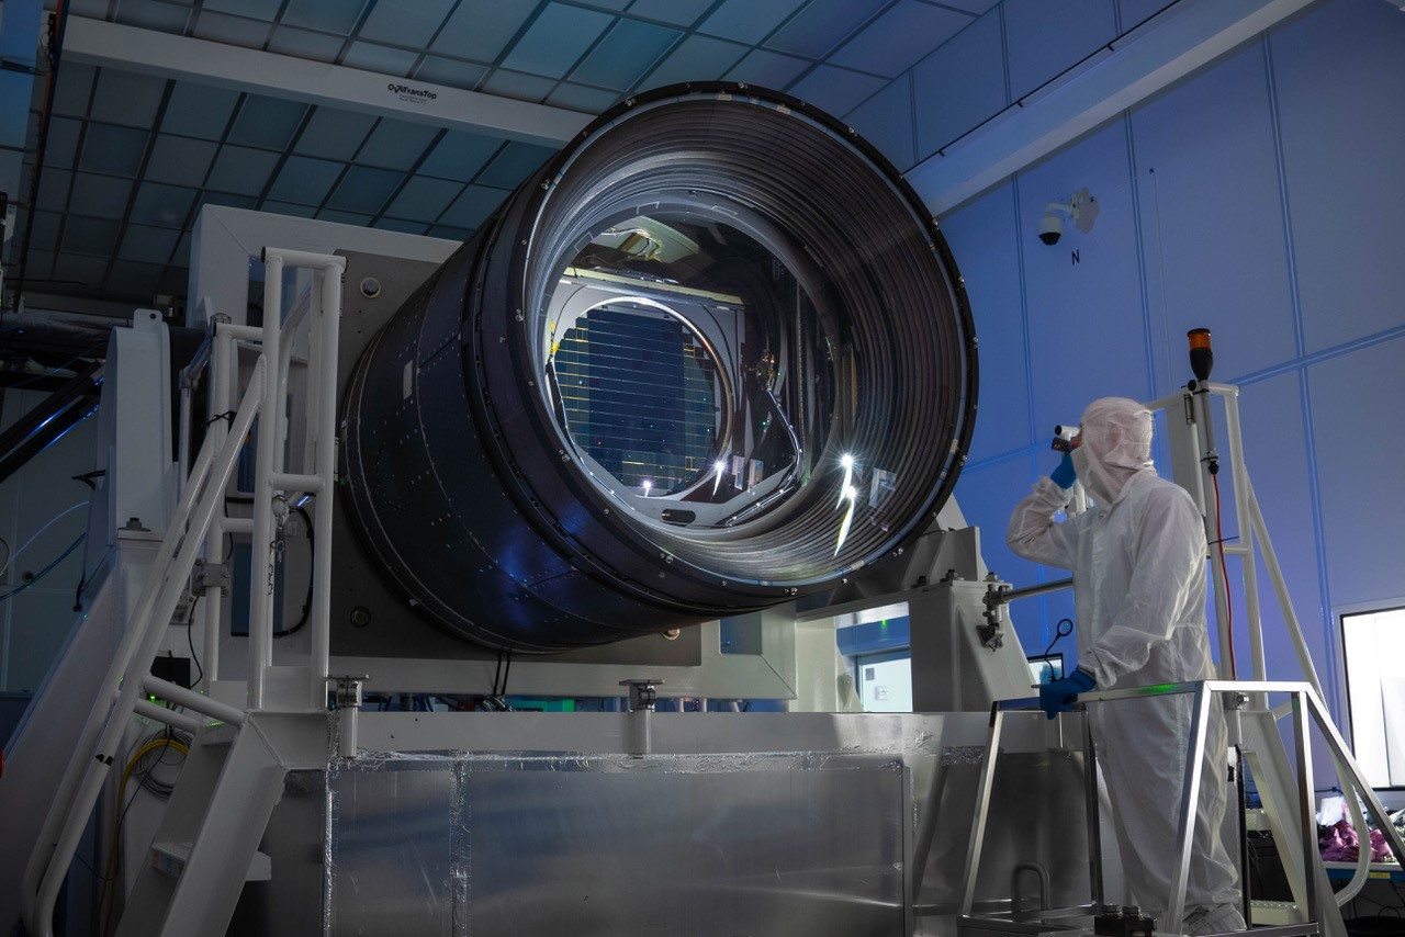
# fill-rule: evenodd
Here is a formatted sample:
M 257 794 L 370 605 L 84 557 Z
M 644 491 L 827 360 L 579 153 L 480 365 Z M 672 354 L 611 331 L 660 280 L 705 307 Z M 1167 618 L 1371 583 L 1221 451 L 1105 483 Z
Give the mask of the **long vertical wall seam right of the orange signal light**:
M 1298 282 L 1297 249 L 1293 239 L 1293 207 L 1288 199 L 1287 160 L 1283 152 L 1283 119 L 1279 110 L 1279 86 L 1273 67 L 1273 45 L 1269 34 L 1259 39 L 1263 49 L 1263 74 L 1269 93 L 1269 119 L 1273 128 L 1273 163 L 1279 183 L 1279 207 L 1283 218 L 1283 247 L 1288 273 L 1288 301 L 1293 310 L 1293 343 L 1294 354 L 1301 361 L 1305 357 L 1307 341 L 1302 327 L 1302 291 Z M 1322 518 L 1322 487 L 1316 461 L 1316 433 L 1312 424 L 1312 388 L 1308 375 L 1308 364 L 1298 367 L 1298 400 L 1302 406 L 1302 437 L 1308 461 L 1308 500 L 1312 506 L 1312 541 L 1316 552 L 1318 590 L 1322 607 L 1319 611 L 1322 621 L 1322 649 L 1326 656 L 1326 673 L 1321 674 L 1326 684 L 1326 705 L 1333 714 L 1340 715 L 1340 687 L 1338 680 L 1338 646 L 1335 634 L 1335 612 L 1332 610 L 1332 586 L 1328 576 L 1326 535 Z M 1340 719 L 1338 719 L 1340 722 Z

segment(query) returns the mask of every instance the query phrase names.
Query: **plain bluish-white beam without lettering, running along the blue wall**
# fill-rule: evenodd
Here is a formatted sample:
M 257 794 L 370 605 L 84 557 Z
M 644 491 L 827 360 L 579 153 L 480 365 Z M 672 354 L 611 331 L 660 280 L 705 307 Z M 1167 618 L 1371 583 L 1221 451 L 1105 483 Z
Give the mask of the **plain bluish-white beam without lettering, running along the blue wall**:
M 1180 0 L 906 173 L 950 212 L 1316 0 Z

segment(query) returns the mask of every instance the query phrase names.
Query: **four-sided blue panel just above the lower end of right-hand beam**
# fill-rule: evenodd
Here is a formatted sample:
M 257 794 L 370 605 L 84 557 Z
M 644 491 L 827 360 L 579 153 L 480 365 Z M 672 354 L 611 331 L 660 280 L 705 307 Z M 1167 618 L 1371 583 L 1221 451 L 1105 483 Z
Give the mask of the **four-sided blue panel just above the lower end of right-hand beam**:
M 1007 104 L 1002 48 L 1000 10 L 995 8 L 912 70 L 919 160 Z

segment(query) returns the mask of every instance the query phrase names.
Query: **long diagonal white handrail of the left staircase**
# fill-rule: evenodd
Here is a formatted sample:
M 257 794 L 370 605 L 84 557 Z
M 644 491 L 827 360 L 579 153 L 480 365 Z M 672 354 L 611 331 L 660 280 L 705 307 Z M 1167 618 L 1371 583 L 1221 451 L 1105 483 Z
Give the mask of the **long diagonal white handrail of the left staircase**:
M 216 509 L 225 496 L 225 485 L 233 475 L 243 448 L 244 435 L 263 405 L 267 364 L 260 358 L 256 379 L 250 382 L 239 406 L 228 438 L 215 452 L 214 441 L 201 447 L 192 476 L 195 482 L 187 487 L 177 507 L 176 520 L 162 544 L 152 573 L 142 589 L 142 597 L 133 614 L 133 627 L 128 628 L 108 667 L 105 684 L 112 687 L 104 707 L 94 707 L 83 728 L 73 760 L 65 771 L 59 795 L 55 798 L 35 850 L 25 867 L 21 900 L 25 920 L 34 937 L 52 937 L 53 903 L 67 874 L 69 864 L 77 848 L 87 818 L 97 802 L 107 773 L 115 761 L 117 747 L 126 730 L 128 716 L 135 712 L 142 690 L 142 677 L 149 669 L 149 660 L 164 635 L 180 590 L 185 586 L 195 563 L 195 555 L 204 546 L 205 532 Z M 178 548 L 178 552 L 177 552 Z M 52 844 L 52 850 L 51 850 Z

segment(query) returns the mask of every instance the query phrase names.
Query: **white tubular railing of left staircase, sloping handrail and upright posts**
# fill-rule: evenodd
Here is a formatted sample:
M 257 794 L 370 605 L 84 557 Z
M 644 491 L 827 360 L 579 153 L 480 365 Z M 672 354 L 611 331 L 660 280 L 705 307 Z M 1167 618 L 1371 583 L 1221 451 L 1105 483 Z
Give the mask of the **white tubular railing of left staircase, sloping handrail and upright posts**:
M 260 594 L 253 587 L 250 605 L 250 667 L 249 697 L 246 708 L 229 707 L 202 694 L 184 690 L 174 684 L 156 680 L 148 673 L 166 628 L 185 594 L 188 577 L 200 552 L 214 544 L 221 549 L 221 525 L 216 516 L 222 514 L 226 485 L 235 471 L 244 437 L 259 421 L 259 471 L 256 473 L 257 496 L 254 499 L 253 532 L 254 542 L 273 542 L 274 500 L 294 492 L 320 492 L 330 499 L 334 480 L 336 447 L 336 347 L 341 316 L 341 271 L 346 261 L 329 254 L 312 254 L 289 250 L 264 250 L 268 275 L 264 281 L 264 323 L 261 329 L 219 323 L 215 327 L 215 392 L 216 399 L 228 403 L 233 374 L 222 374 L 230 362 L 230 344 L 237 340 L 261 343 L 261 354 L 254 365 L 249 386 L 244 389 L 237 412 L 228 426 L 216 421 L 215 430 L 205 438 L 200 455 L 191 465 L 184 493 L 174 511 L 167 537 L 162 542 L 152 573 L 142 590 L 142 597 L 122 635 L 112 663 L 103 680 L 110 687 L 107 697 L 101 694 L 74 747 L 58 795 L 45 819 L 37 847 L 25 867 L 21 900 L 30 933 L 35 937 L 52 937 L 53 903 L 59 888 L 73 861 L 74 850 L 89 815 L 107 781 L 108 771 L 117 763 L 122 735 L 131 716 L 140 709 L 142 715 L 160 718 L 171 725 L 188 729 L 191 722 L 204 725 L 214 719 L 230 725 L 243 725 L 246 708 L 264 709 L 275 704 L 284 709 L 325 709 L 327 679 L 327 608 L 330 604 L 330 551 L 319 553 L 313 570 L 313 625 L 312 650 L 306 667 L 306 684 L 301 698 L 274 700 L 267 693 L 271 669 L 273 615 L 268 603 L 271 596 Z M 313 471 L 306 475 L 275 472 L 275 454 L 281 455 L 285 445 L 287 420 L 284 417 L 288 393 L 288 367 L 291 336 L 301 325 L 308 306 L 301 306 L 284 320 L 282 270 L 285 266 L 303 267 L 320 275 L 320 303 L 312 323 L 313 355 L 311 367 L 311 393 L 315 420 L 309 426 L 312 434 Z M 232 371 L 232 368 L 230 368 Z M 332 539 L 332 510 L 323 503 L 318 511 L 318 537 Z M 256 558 L 259 553 L 256 552 Z M 263 563 L 256 561 L 254 583 L 268 582 L 274 558 L 266 555 Z M 208 603 L 215 610 L 207 615 L 207 635 L 218 634 L 218 603 Z M 214 648 L 218 642 L 209 642 Z M 218 666 L 218 664 L 216 664 Z M 145 702 L 142 694 L 150 690 L 166 700 L 185 707 L 201 716 L 173 715 L 169 709 Z M 218 844 L 216 844 L 218 847 Z

